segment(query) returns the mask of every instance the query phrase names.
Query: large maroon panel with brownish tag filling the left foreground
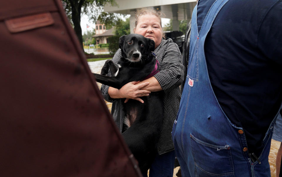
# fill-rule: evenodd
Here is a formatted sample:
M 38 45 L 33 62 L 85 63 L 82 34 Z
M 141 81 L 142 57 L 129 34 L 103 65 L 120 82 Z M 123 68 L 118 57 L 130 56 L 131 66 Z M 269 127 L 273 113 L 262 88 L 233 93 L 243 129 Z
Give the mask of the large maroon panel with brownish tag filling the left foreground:
M 139 176 L 61 1 L 0 5 L 0 176 Z

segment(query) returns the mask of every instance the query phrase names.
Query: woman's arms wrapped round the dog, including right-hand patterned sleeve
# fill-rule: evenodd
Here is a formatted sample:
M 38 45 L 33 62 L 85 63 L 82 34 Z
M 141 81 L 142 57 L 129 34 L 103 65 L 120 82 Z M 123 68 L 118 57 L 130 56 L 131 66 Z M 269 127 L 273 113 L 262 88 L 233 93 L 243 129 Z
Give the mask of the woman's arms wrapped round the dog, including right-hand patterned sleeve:
M 184 66 L 182 65 L 181 53 L 178 46 L 172 41 L 166 45 L 160 51 L 164 52 L 164 54 L 158 55 L 163 58 L 161 60 L 160 72 L 141 82 L 129 82 L 120 89 L 109 87 L 107 90 L 109 98 L 135 99 L 143 103 L 143 100 L 139 97 L 148 96 L 151 91 L 164 90 L 168 92 L 179 86 L 184 79 Z

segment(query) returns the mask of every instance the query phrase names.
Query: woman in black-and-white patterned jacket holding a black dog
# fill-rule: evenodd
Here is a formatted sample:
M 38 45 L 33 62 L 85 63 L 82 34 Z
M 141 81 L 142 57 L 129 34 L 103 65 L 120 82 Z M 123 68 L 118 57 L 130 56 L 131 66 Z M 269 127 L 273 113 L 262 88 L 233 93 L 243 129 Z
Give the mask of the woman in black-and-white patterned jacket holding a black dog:
M 156 58 L 160 63 L 160 72 L 141 82 L 130 82 L 121 89 L 106 85 L 101 92 L 108 102 L 112 102 L 111 114 L 120 132 L 123 132 L 124 107 L 119 98 L 135 99 L 143 103 L 141 96 L 148 96 L 151 91 L 164 90 L 164 118 L 161 137 L 158 141 L 158 154 L 150 168 L 150 176 L 173 176 L 175 152 L 171 138 L 173 121 L 176 118 L 181 93 L 179 85 L 184 80 L 184 66 L 178 46 L 171 39 L 164 40 L 161 28 L 161 12 L 154 9 L 141 9 L 135 14 L 134 33 L 155 41 Z M 116 51 L 113 61 L 121 58 L 121 50 Z M 143 174 L 147 176 L 147 174 Z

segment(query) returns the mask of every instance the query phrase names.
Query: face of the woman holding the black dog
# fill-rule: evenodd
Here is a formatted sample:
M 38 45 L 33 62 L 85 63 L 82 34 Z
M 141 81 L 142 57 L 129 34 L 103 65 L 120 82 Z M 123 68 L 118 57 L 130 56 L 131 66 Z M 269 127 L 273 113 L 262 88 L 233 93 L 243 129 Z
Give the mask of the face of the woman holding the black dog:
M 146 14 L 139 16 L 139 22 L 134 32 L 155 41 L 155 49 L 161 44 L 163 31 L 160 19 L 155 15 Z

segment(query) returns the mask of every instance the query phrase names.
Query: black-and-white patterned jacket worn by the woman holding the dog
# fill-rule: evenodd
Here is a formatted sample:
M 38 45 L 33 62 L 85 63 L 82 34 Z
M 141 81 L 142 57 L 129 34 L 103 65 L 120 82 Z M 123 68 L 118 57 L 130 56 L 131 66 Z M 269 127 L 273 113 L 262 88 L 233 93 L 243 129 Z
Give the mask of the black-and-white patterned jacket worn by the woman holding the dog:
M 161 129 L 161 137 L 157 144 L 158 154 L 161 155 L 174 150 L 171 131 L 179 108 L 181 98 L 179 85 L 184 80 L 184 66 L 182 64 L 179 48 L 171 39 L 162 40 L 161 44 L 155 49 L 154 53 L 156 54 L 156 58 L 160 63 L 160 72 L 154 75 L 154 77 L 158 80 L 161 88 L 165 91 L 165 96 L 163 98 L 163 125 Z M 119 49 L 116 51 L 116 54 L 112 59 L 116 66 L 120 57 L 121 50 Z M 111 73 L 109 72 L 108 75 L 111 76 Z M 110 98 L 108 90 L 109 86 L 101 86 L 101 92 L 105 100 L 113 103 L 111 114 L 114 118 L 116 126 L 121 132 L 125 116 L 124 103 L 122 99 Z

